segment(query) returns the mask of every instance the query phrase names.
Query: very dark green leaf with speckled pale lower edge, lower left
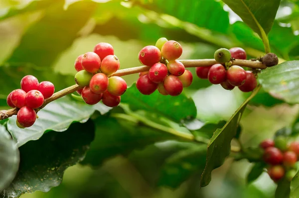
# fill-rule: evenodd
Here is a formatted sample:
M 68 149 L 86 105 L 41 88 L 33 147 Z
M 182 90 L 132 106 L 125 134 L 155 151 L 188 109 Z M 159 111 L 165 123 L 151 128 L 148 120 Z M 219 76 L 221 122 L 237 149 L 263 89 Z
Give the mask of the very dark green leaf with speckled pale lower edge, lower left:
M 1 198 L 18 198 L 24 193 L 48 192 L 62 182 L 64 171 L 82 161 L 94 138 L 94 124 L 75 123 L 64 133 L 51 132 L 20 147 L 20 167 Z

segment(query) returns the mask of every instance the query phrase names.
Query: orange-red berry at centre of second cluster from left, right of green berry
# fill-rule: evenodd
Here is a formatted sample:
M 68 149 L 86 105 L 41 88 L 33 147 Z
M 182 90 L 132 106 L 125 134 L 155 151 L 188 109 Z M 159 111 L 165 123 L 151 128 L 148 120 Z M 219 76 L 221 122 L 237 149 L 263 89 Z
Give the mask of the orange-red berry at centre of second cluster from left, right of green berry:
M 90 82 L 89 87 L 90 89 L 97 94 L 103 93 L 107 90 L 109 85 L 109 79 L 106 74 L 104 73 L 97 73 L 95 74 Z

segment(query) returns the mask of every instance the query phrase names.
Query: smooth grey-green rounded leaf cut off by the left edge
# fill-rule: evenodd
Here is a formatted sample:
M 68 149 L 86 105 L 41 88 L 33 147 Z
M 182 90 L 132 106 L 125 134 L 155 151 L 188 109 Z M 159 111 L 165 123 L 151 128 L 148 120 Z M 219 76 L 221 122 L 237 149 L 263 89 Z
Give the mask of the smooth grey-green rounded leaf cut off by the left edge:
M 5 127 L 0 125 L 0 192 L 13 180 L 19 166 L 19 151 Z

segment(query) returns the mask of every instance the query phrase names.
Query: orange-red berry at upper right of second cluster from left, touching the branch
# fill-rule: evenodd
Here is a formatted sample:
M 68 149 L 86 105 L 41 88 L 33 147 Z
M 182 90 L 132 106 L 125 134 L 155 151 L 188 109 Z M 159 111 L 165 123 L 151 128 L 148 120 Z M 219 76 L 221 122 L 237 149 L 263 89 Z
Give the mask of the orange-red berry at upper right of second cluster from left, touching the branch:
M 116 55 L 106 56 L 101 63 L 101 72 L 110 76 L 120 68 L 120 60 Z

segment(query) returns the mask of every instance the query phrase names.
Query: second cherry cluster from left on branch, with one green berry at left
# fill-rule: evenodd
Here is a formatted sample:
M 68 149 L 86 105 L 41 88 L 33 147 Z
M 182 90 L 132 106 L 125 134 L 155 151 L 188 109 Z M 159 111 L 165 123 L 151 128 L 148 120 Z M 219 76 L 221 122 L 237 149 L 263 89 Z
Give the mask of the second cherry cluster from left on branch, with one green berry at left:
M 120 61 L 114 55 L 111 44 L 100 42 L 93 52 L 86 52 L 75 61 L 75 82 L 83 87 L 77 91 L 86 104 L 94 105 L 102 100 L 108 107 L 116 107 L 121 95 L 127 90 L 126 81 L 119 76 L 111 76 L 120 68 Z

